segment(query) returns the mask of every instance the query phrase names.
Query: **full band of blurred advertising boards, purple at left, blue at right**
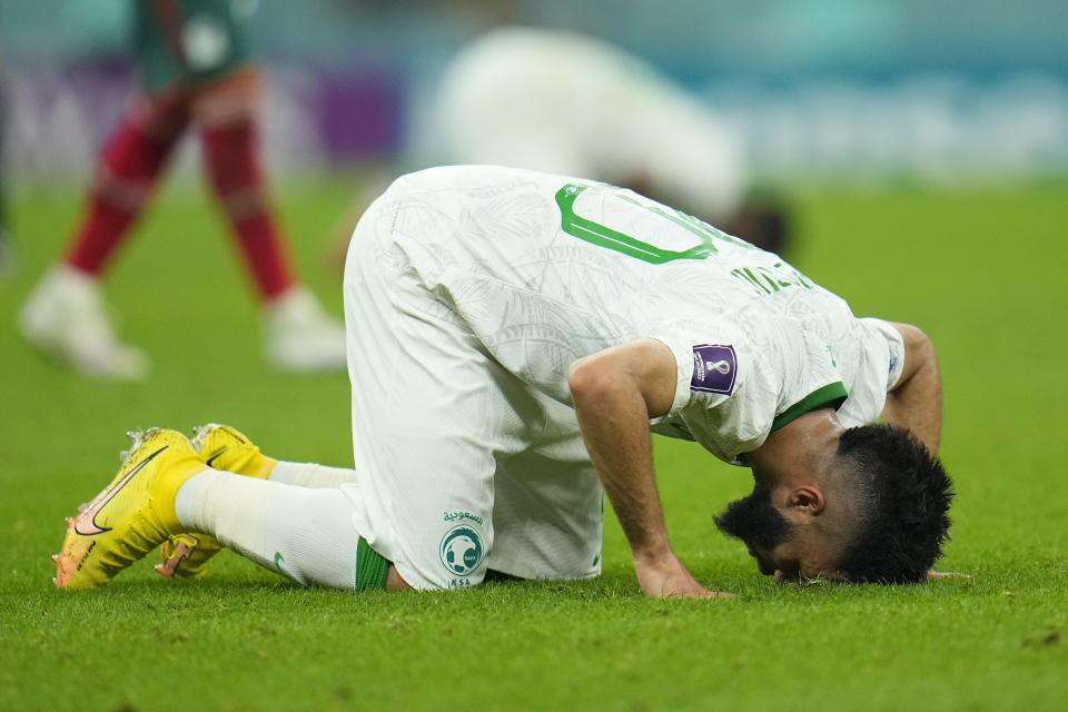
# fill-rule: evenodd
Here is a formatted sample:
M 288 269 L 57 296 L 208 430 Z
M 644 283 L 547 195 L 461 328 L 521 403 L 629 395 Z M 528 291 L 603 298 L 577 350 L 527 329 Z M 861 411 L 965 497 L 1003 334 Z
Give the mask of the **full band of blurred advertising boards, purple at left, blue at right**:
M 409 102 L 398 76 L 276 65 L 268 78 L 264 140 L 273 175 L 400 152 Z M 13 69 L 7 156 L 18 181 L 85 178 L 131 87 L 115 62 Z M 989 181 L 1068 172 L 1068 83 L 1050 76 L 810 79 L 785 88 L 722 82 L 699 93 L 740 129 L 753 172 L 772 180 Z M 191 152 L 187 141 L 179 172 L 195 162 Z

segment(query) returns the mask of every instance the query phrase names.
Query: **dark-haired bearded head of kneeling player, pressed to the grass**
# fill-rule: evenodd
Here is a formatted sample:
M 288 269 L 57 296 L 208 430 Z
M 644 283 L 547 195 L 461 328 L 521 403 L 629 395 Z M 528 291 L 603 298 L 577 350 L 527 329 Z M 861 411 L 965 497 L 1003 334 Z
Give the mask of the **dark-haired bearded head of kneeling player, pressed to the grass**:
M 745 543 L 761 573 L 779 580 L 853 583 L 926 580 L 949 538 L 951 484 L 941 463 L 911 433 L 887 425 L 842 433 L 813 485 L 772 485 L 754 471 L 748 497 L 715 517 Z M 798 500 L 815 516 L 798 516 Z

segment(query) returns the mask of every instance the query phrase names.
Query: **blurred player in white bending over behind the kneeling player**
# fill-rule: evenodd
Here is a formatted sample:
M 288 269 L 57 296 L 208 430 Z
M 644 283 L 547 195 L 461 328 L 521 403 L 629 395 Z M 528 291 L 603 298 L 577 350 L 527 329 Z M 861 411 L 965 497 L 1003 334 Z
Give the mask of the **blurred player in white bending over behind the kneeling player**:
M 432 162 L 595 178 L 782 249 L 781 209 L 749 196 L 740 132 L 601 40 L 544 28 L 492 30 L 451 61 L 424 126 L 415 142 L 436 157 Z

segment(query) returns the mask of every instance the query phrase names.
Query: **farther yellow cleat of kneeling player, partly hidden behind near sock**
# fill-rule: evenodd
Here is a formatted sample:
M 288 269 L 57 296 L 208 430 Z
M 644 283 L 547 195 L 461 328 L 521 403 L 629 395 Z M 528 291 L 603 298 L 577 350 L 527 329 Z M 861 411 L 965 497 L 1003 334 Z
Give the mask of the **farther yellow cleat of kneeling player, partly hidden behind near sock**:
M 243 433 L 229 425 L 208 423 L 194 428 L 192 446 L 209 467 L 266 479 L 278 464 L 265 456 Z M 161 563 L 156 571 L 165 578 L 199 578 L 208 562 L 222 550 L 210 534 L 178 534 L 159 548 Z

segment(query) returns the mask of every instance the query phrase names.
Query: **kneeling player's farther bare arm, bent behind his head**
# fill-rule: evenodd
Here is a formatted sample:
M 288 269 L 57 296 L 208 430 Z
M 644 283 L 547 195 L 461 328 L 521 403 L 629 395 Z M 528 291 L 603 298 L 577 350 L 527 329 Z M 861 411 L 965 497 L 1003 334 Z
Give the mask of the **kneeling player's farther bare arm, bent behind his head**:
M 883 423 L 912 431 L 931 453 L 938 452 L 942 431 L 942 385 L 934 345 L 911 324 L 894 324 L 904 339 L 904 368 L 887 394 Z

